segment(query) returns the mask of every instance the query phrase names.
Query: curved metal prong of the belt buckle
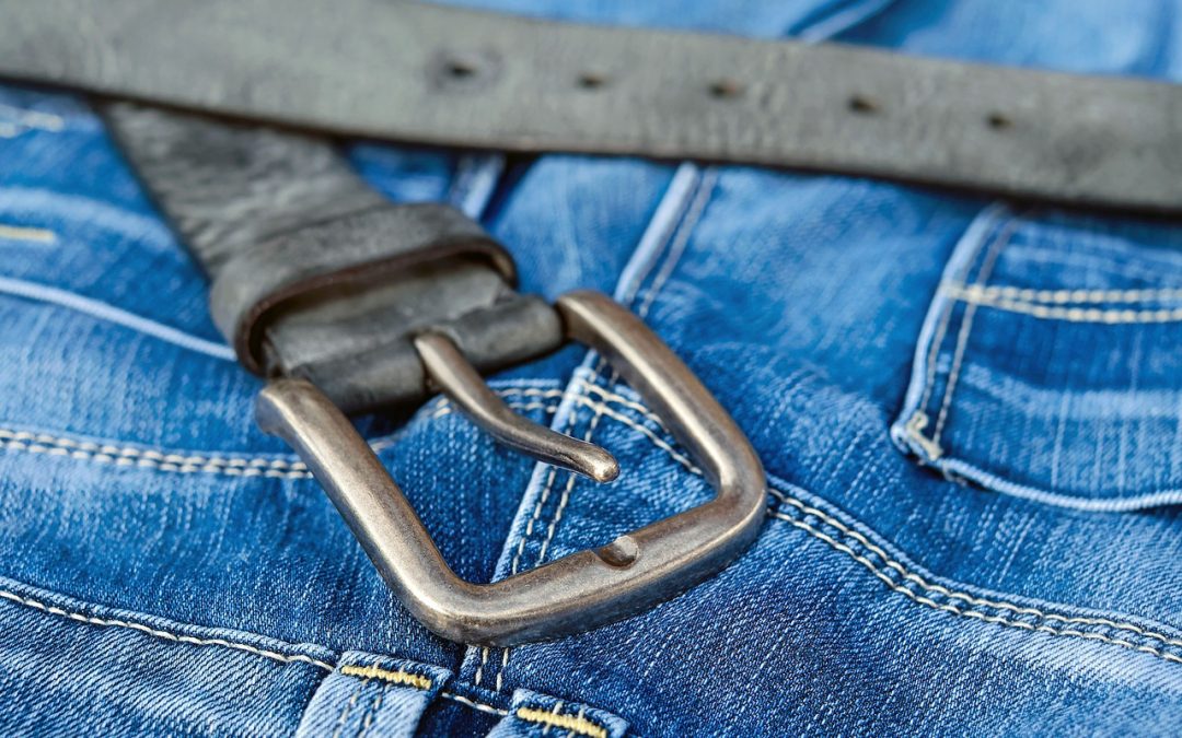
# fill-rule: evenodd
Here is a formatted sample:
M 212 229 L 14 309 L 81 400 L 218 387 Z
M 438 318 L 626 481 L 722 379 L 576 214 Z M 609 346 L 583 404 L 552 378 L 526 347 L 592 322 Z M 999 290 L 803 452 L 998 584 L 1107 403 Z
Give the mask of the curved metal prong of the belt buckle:
M 498 442 L 596 482 L 611 482 L 619 475 L 619 462 L 603 448 L 538 425 L 509 410 L 443 333 L 416 335 L 415 350 L 430 380 Z

